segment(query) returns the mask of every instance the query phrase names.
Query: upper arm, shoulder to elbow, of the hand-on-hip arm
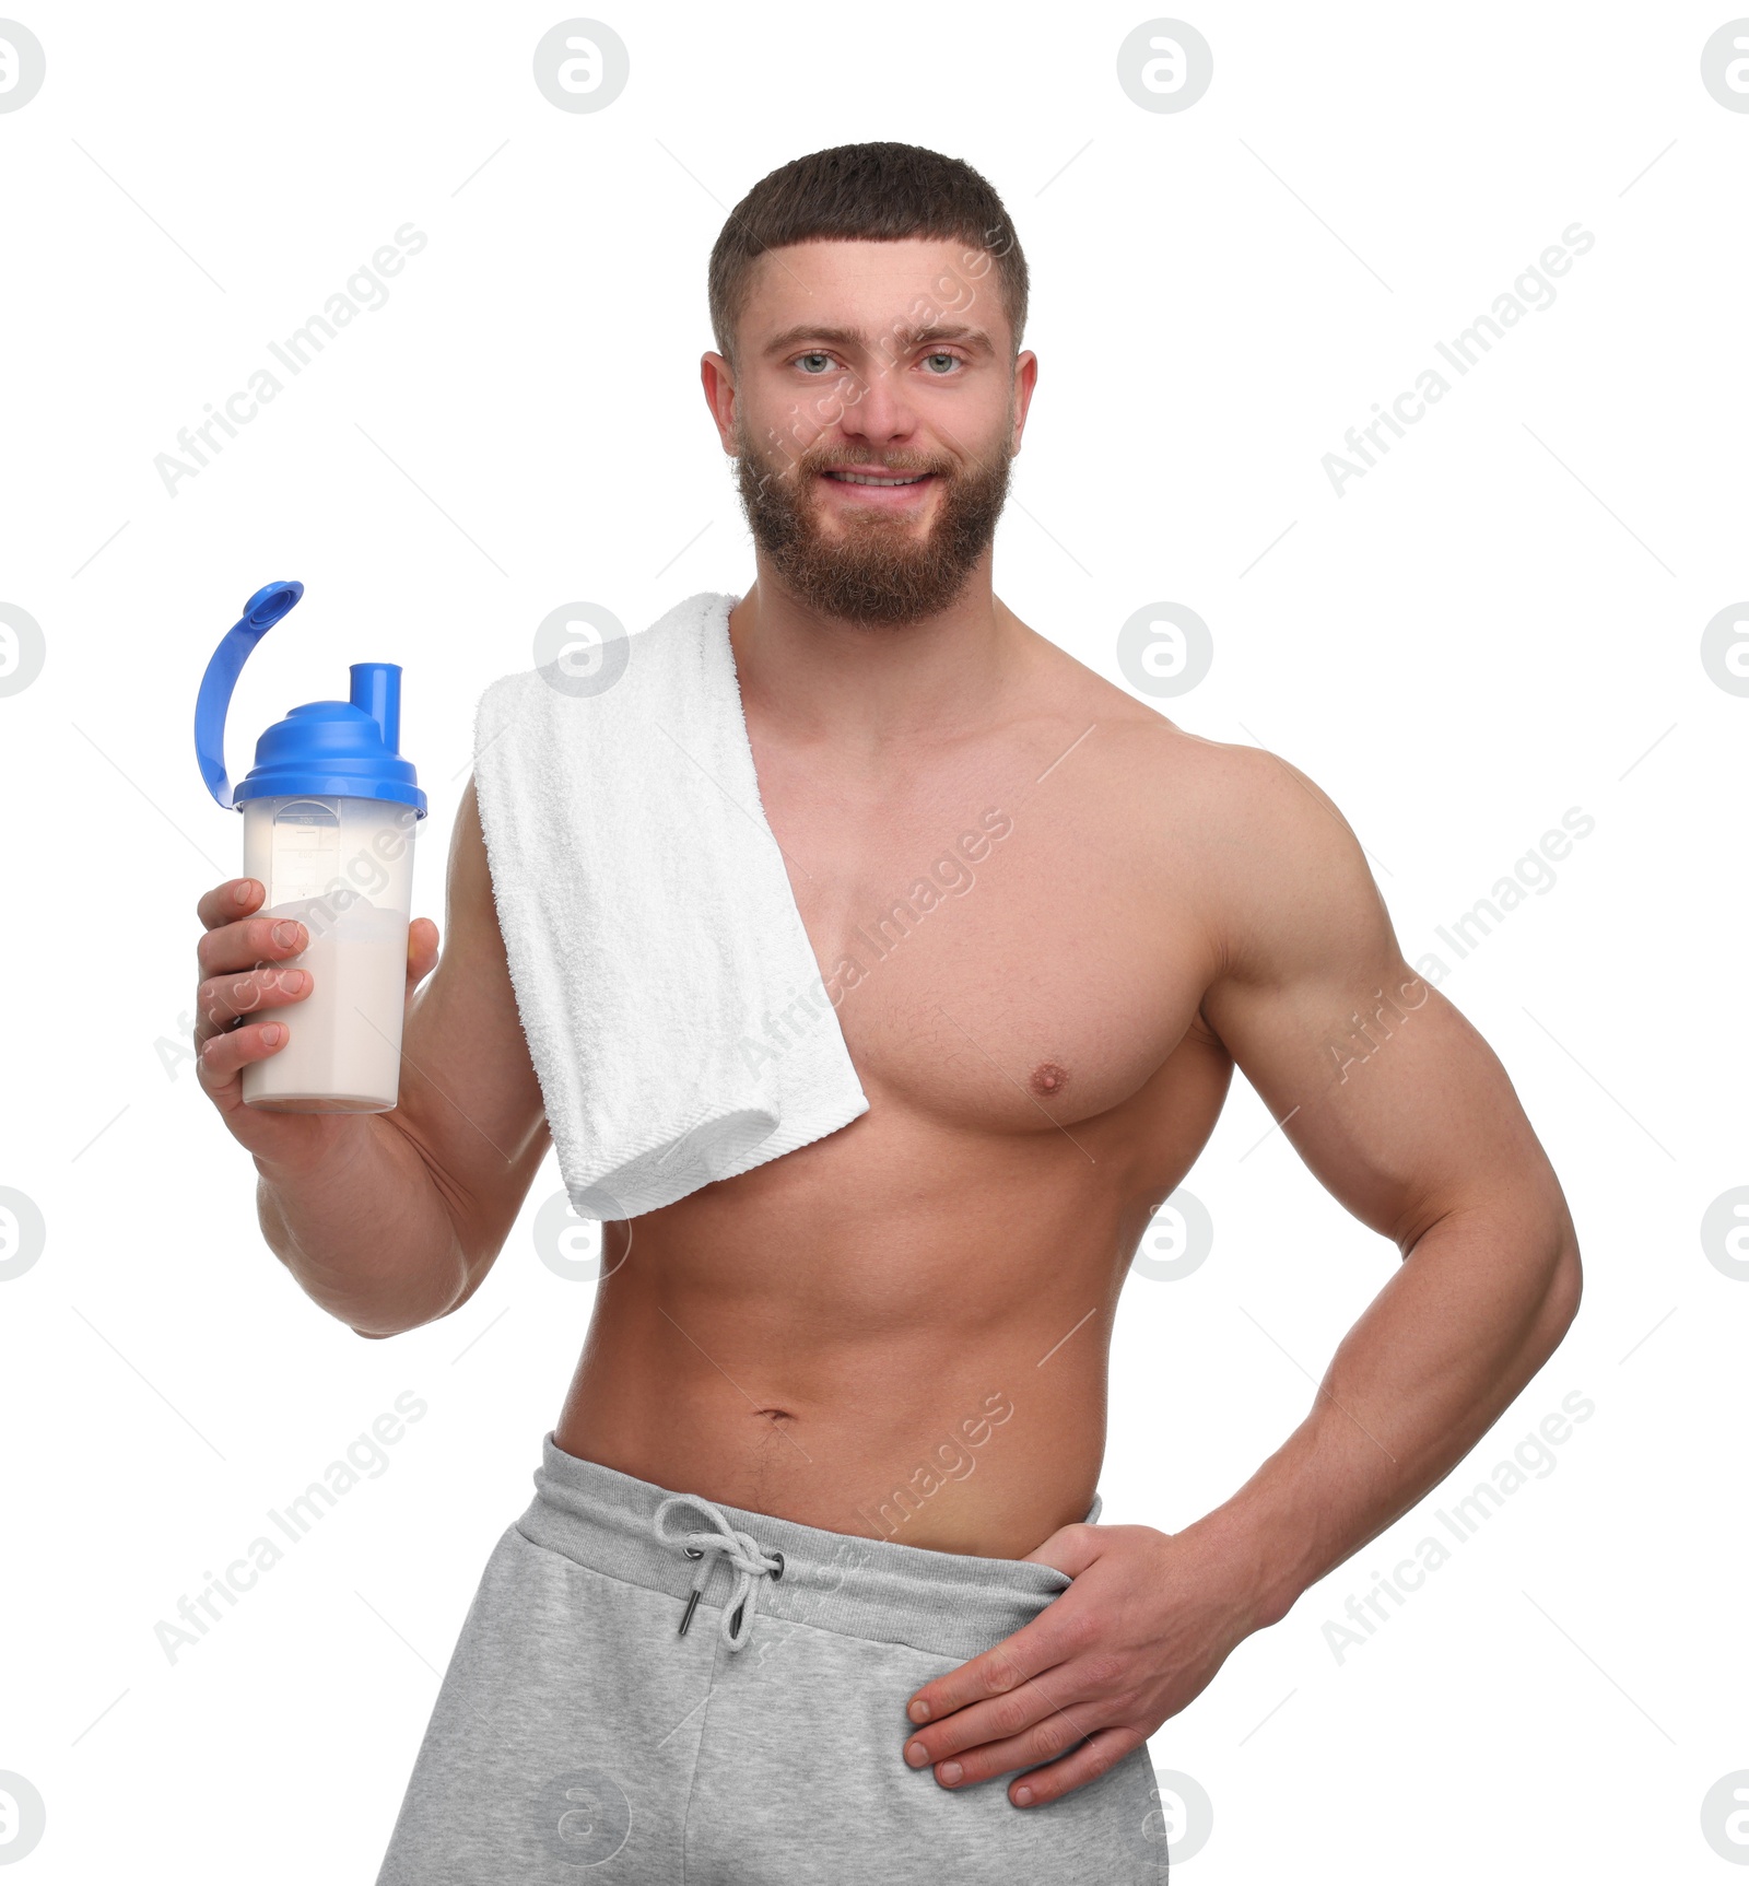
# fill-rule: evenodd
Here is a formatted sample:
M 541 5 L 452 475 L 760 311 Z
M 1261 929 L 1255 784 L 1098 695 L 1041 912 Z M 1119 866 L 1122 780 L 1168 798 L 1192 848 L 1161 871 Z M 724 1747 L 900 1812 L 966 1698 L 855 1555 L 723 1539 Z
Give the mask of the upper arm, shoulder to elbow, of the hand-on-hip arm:
M 1498 1056 L 1404 962 L 1366 856 L 1302 773 L 1263 754 L 1246 881 L 1227 886 L 1204 1015 L 1317 1181 L 1408 1252 L 1447 1213 L 1564 1222 Z

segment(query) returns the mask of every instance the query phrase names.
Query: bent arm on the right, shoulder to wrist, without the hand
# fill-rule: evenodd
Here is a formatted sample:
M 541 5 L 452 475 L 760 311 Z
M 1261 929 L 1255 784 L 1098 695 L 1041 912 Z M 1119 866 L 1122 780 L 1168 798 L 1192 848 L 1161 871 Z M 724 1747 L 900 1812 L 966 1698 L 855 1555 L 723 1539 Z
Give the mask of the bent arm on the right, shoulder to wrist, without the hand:
M 1312 1173 L 1402 1252 L 1312 1413 L 1201 1522 L 1250 1562 L 1270 1624 L 1536 1375 L 1577 1309 L 1579 1252 L 1504 1067 L 1410 971 L 1353 832 L 1285 762 L 1238 764 L 1202 1013 Z

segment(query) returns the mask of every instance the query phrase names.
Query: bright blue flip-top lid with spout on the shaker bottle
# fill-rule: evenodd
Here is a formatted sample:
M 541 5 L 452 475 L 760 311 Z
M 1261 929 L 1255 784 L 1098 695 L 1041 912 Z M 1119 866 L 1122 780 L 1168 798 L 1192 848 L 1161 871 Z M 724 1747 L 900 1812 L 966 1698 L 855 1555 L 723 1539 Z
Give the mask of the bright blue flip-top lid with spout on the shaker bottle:
M 305 702 L 254 743 L 254 766 L 232 788 L 224 771 L 224 717 L 254 645 L 296 607 L 302 583 L 270 583 L 243 604 L 213 651 L 194 703 L 194 753 L 221 805 L 281 794 L 390 800 L 426 815 L 426 796 L 401 747 L 401 670 L 394 662 L 352 662 L 352 698 Z

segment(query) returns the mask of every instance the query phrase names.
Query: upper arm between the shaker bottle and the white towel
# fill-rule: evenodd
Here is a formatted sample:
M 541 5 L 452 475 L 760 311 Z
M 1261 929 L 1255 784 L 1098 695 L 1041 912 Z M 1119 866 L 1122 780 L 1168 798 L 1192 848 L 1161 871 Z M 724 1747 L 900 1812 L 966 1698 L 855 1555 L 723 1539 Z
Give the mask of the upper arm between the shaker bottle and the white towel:
M 509 1235 L 550 1143 L 471 779 L 450 835 L 441 941 L 437 968 L 407 1011 L 396 1113 L 456 1226 L 471 1294 Z

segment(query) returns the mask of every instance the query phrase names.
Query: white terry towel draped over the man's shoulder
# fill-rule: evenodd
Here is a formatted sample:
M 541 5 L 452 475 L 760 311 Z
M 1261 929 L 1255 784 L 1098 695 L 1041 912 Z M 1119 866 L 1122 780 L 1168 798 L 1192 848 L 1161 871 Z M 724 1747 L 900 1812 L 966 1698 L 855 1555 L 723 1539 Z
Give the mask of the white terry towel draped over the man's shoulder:
M 516 1009 L 584 1218 L 656 1211 L 869 1109 L 760 803 L 737 602 L 690 596 L 626 637 L 601 692 L 530 668 L 475 713 Z

